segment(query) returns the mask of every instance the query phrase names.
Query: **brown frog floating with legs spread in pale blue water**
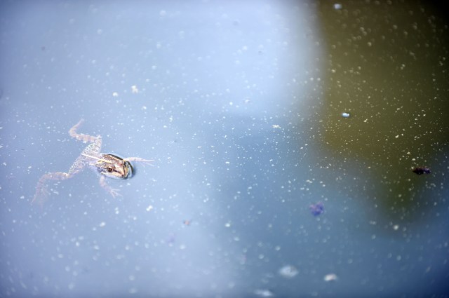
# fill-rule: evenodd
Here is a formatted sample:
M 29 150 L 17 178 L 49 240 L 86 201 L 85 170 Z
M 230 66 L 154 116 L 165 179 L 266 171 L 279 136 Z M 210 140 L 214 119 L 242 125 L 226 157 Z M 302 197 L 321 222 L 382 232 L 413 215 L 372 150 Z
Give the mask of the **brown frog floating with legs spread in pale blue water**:
M 32 203 L 39 203 L 43 205 L 43 202 L 48 198 L 48 180 L 67 180 L 74 177 L 84 168 L 93 168 L 100 174 L 100 186 L 111 194 L 113 198 L 121 196 L 118 189 L 113 189 L 107 184 L 107 178 L 115 179 L 128 179 L 133 176 L 134 168 L 132 162 L 144 163 L 152 165 L 153 159 L 144 159 L 140 157 L 128 157 L 121 158 L 114 154 L 101 153 L 102 137 L 101 135 L 93 136 L 78 133 L 78 130 L 84 119 L 76 123 L 69 129 L 70 137 L 79 140 L 84 143 L 88 143 L 88 146 L 81 151 L 80 156 L 76 158 L 72 166 L 67 172 L 47 172 L 42 175 L 36 186 L 36 193 Z

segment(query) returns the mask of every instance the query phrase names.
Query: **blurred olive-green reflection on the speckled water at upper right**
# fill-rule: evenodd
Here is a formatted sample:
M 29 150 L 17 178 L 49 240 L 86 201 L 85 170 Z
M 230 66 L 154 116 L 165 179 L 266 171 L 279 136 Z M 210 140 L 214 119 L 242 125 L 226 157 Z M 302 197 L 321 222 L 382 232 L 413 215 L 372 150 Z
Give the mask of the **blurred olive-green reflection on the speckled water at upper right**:
M 448 23 L 434 6 L 322 1 L 323 145 L 374 187 L 382 213 L 417 215 L 441 200 L 448 172 Z M 349 118 L 342 113 L 350 113 Z M 411 168 L 427 165 L 431 175 Z

